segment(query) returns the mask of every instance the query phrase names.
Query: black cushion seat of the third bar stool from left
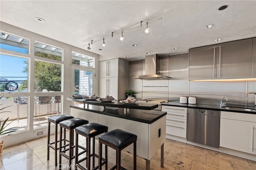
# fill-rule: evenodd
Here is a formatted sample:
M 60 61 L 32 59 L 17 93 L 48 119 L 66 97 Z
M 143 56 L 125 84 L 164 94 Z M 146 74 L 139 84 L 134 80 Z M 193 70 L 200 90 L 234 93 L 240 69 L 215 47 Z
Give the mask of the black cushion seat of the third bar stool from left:
M 94 137 L 102 133 L 106 133 L 107 131 L 107 126 L 98 123 L 88 123 L 86 125 L 82 125 L 76 128 L 76 133 L 86 135 L 88 137 Z

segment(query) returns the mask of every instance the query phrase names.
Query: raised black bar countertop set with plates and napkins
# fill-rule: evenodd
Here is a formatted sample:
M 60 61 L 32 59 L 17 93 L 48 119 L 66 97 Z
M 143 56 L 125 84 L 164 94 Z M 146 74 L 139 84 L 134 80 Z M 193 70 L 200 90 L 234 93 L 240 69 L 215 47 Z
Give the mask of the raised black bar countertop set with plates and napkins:
M 97 105 L 97 106 L 107 106 L 107 107 L 120 107 L 120 108 L 128 108 L 128 109 L 142 109 L 142 110 L 152 110 L 158 107 L 158 104 L 153 103 L 136 103 L 136 104 L 123 104 L 118 100 L 113 100 L 112 102 L 100 102 L 100 101 L 86 101 L 84 99 L 74 99 L 67 98 L 67 100 L 73 102 L 79 102 L 83 104 Z

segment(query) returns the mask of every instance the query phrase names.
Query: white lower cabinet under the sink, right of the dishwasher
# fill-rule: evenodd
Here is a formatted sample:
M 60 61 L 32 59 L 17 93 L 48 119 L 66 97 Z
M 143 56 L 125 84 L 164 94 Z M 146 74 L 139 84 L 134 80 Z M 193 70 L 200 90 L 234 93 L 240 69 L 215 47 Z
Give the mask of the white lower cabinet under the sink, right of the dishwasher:
M 220 147 L 256 154 L 256 115 L 221 111 Z

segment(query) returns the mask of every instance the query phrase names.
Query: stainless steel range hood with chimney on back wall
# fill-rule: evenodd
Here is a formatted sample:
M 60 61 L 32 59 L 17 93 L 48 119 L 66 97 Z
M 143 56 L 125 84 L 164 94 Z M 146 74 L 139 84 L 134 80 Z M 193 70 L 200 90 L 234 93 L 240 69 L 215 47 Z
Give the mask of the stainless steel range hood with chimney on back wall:
M 171 77 L 163 76 L 160 74 L 160 59 L 156 54 L 147 55 L 145 58 L 145 75 L 136 76 L 142 80 L 164 80 L 170 79 Z

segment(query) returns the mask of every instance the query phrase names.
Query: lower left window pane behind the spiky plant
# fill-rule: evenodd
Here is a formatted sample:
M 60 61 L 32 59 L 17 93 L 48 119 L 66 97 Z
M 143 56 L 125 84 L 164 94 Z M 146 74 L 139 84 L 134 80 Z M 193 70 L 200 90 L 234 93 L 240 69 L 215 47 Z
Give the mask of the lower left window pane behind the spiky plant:
M 3 96 L 0 99 L 0 103 L 1 103 L 0 112 L 1 112 L 1 119 L 2 119 L 1 125 L 8 118 L 8 121 L 5 124 L 6 130 L 15 127 L 17 131 L 14 131 L 12 133 L 19 133 L 20 131 L 28 129 L 28 96 L 19 96 L 19 97 Z M 7 111 L 7 112 L 3 112 L 3 111 Z M 6 135 L 9 135 L 9 134 L 11 133 L 7 133 Z

